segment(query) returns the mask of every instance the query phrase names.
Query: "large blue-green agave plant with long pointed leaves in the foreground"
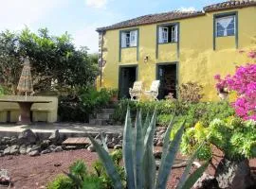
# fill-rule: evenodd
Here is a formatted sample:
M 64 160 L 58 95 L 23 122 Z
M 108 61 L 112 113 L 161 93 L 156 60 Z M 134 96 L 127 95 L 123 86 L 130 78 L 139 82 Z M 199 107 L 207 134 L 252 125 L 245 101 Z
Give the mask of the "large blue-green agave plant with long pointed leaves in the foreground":
M 155 118 L 154 112 L 151 120 L 149 115 L 142 125 L 141 112 L 137 112 L 135 128 L 132 127 L 130 110 L 128 108 L 126 113 L 125 126 L 123 131 L 122 154 L 123 163 L 126 172 L 126 186 L 123 186 L 120 180 L 119 173 L 110 158 L 105 145 L 102 147 L 96 140 L 89 136 L 92 144 L 105 166 L 106 172 L 113 182 L 115 189 L 165 189 L 172 172 L 175 155 L 179 149 L 181 137 L 184 130 L 184 124 L 177 130 L 174 140 L 170 141 L 170 133 L 174 124 L 174 117 L 166 130 L 163 144 L 163 152 L 161 162 L 156 176 L 155 157 L 153 153 L 154 147 L 154 133 L 155 133 Z M 104 141 L 103 141 L 104 143 Z M 198 151 L 198 150 L 197 150 Z M 182 174 L 177 189 L 189 189 L 196 180 L 198 180 L 203 172 L 208 167 L 208 163 L 196 169 L 192 175 L 189 176 L 192 162 L 196 158 L 197 151 L 192 155 L 188 161 L 188 165 Z

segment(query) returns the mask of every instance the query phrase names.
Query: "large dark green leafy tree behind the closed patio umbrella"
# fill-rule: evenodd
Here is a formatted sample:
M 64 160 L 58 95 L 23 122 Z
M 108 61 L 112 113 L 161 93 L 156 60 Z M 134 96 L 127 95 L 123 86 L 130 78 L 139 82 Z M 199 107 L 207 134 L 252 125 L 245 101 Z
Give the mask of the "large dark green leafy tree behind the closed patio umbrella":
M 37 33 L 28 28 L 21 32 L 6 30 L 0 33 L 0 84 L 12 94 L 16 93 L 26 57 L 36 92 L 90 85 L 99 74 L 87 48 L 76 49 L 67 33 L 52 36 L 46 28 Z

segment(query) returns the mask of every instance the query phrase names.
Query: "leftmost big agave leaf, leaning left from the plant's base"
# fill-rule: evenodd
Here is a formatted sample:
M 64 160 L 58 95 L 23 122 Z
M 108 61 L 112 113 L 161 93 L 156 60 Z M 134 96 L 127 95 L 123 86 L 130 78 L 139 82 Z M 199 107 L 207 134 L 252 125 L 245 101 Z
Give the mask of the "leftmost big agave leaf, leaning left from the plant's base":
M 95 149 L 101 159 L 101 162 L 103 163 L 109 178 L 113 182 L 114 188 L 121 189 L 122 184 L 121 184 L 119 172 L 117 171 L 115 164 L 113 163 L 108 152 L 99 143 L 97 143 L 96 140 L 90 135 L 89 135 L 89 139 L 91 140 L 93 146 L 95 146 Z

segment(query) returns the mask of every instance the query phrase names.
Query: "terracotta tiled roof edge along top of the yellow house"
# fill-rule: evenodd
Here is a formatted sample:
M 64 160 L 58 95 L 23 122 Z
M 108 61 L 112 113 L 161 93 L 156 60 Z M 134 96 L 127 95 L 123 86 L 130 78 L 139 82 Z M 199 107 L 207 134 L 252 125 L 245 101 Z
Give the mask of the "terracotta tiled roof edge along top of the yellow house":
M 104 31 L 110 29 L 119 29 L 131 26 L 150 25 L 161 22 L 168 22 L 177 19 L 191 18 L 195 16 L 205 15 L 205 12 L 218 11 L 223 9 L 239 9 L 245 7 L 256 6 L 256 0 L 237 0 L 226 1 L 223 3 L 213 4 L 204 8 L 204 11 L 170 11 L 158 14 L 149 14 L 145 16 L 139 16 L 137 18 L 120 22 L 112 26 L 105 26 L 97 28 L 97 31 Z

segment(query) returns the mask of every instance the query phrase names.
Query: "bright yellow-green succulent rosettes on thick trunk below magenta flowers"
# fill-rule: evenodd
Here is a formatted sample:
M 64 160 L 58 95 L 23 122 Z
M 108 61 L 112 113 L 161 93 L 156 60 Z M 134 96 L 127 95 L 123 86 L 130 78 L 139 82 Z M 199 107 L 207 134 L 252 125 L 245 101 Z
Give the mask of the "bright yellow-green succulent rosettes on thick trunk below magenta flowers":
M 185 154 L 191 154 L 198 143 L 206 141 L 198 158 L 209 159 L 212 156 L 210 146 L 221 149 L 227 159 L 241 160 L 256 157 L 256 122 L 243 121 L 230 116 L 226 119 L 214 119 L 209 126 L 198 122 L 194 128 L 187 129 L 181 145 Z

